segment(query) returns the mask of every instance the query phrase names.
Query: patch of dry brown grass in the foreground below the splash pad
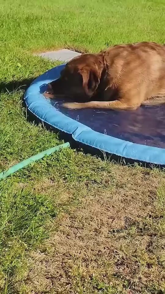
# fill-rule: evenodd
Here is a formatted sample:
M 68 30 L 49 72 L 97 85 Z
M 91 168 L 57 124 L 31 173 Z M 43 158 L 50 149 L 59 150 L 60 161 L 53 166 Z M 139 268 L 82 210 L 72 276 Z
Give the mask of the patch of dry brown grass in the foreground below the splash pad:
M 70 206 L 56 220 L 58 231 L 31 252 L 19 292 L 163 293 L 163 183 L 164 173 L 119 165 L 111 174 L 102 169 L 97 183 L 36 183 Z

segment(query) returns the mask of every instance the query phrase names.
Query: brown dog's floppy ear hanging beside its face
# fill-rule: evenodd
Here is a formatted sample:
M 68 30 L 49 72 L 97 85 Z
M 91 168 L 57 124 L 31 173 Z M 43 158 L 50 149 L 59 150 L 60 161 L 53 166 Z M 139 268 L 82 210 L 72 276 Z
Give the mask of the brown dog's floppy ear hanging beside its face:
M 96 91 L 100 78 L 97 70 L 82 69 L 79 71 L 82 75 L 82 86 L 88 96 L 92 96 Z

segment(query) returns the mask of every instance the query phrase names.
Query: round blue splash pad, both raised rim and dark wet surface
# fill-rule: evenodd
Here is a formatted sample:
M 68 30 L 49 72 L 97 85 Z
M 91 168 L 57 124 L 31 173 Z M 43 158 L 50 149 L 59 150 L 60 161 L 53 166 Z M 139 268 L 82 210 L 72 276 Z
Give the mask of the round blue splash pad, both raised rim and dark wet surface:
M 48 70 L 27 89 L 24 101 L 31 113 L 51 127 L 71 134 L 75 141 L 103 152 L 135 161 L 165 164 L 164 105 L 139 107 L 129 112 L 64 109 L 60 102 L 46 99 L 42 94 L 46 85 L 60 76 L 64 66 Z M 153 116 L 157 120 L 154 121 Z

